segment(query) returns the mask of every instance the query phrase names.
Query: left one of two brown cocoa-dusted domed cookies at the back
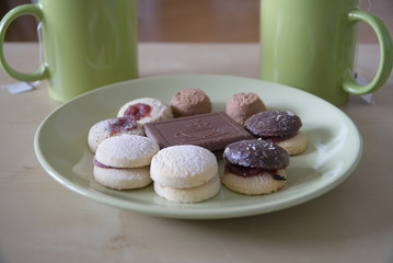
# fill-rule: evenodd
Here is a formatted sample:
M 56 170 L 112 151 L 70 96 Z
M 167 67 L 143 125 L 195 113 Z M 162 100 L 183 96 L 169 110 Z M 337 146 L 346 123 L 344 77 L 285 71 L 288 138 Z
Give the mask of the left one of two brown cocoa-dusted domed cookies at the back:
M 211 102 L 203 90 L 186 88 L 172 96 L 171 108 L 175 117 L 185 117 L 210 113 Z

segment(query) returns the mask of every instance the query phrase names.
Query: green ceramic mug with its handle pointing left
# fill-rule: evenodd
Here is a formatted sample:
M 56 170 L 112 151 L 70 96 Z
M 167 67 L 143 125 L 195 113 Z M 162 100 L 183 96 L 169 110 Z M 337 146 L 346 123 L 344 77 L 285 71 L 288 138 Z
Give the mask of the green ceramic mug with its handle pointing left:
M 50 96 L 60 102 L 138 78 L 137 13 L 137 0 L 38 0 L 19 5 L 0 22 L 0 65 L 18 80 L 46 79 Z M 44 61 L 30 73 L 13 69 L 3 50 L 8 26 L 24 14 L 41 23 L 44 50 Z

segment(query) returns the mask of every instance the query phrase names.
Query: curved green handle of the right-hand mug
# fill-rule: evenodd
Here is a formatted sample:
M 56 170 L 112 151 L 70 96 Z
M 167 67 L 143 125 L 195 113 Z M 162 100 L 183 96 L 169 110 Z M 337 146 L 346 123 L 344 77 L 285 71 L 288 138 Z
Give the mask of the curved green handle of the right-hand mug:
M 389 76 L 392 72 L 393 67 L 393 41 L 392 35 L 389 32 L 385 23 L 378 16 L 362 11 L 354 10 L 348 14 L 349 22 L 359 22 L 363 21 L 368 23 L 378 36 L 380 44 L 380 64 L 378 71 L 373 80 L 366 84 L 361 85 L 356 82 L 354 79 L 352 72 L 347 72 L 344 77 L 343 89 L 352 94 L 366 94 L 381 88 L 388 80 Z

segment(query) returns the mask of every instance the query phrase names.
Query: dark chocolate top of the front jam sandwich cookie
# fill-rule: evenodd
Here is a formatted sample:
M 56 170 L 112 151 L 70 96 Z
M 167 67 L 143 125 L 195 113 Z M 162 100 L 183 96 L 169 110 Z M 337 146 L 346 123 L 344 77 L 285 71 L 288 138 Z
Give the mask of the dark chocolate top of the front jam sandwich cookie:
M 285 169 L 289 164 L 289 156 L 285 149 L 257 139 L 240 140 L 228 145 L 223 159 L 232 164 L 266 170 Z

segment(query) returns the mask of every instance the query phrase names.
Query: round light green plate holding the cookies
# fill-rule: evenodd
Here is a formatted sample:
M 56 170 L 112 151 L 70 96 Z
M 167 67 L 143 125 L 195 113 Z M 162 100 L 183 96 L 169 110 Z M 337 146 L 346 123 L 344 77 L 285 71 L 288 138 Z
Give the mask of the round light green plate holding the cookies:
M 213 111 L 238 92 L 255 92 L 270 110 L 298 114 L 308 136 L 308 149 L 291 157 L 285 188 L 261 196 L 245 196 L 221 187 L 206 202 L 177 204 L 159 197 L 152 185 L 115 191 L 93 180 L 93 155 L 88 133 L 95 123 L 115 117 L 134 99 L 151 96 L 170 103 L 184 88 L 205 90 Z M 269 213 L 320 196 L 342 183 L 358 164 L 362 141 L 350 118 L 332 104 L 303 91 L 257 79 L 230 76 L 181 75 L 142 78 L 96 89 L 61 105 L 38 127 L 35 152 L 57 182 L 89 198 L 119 208 L 172 218 L 231 218 Z M 222 169 L 222 163 L 220 163 Z

